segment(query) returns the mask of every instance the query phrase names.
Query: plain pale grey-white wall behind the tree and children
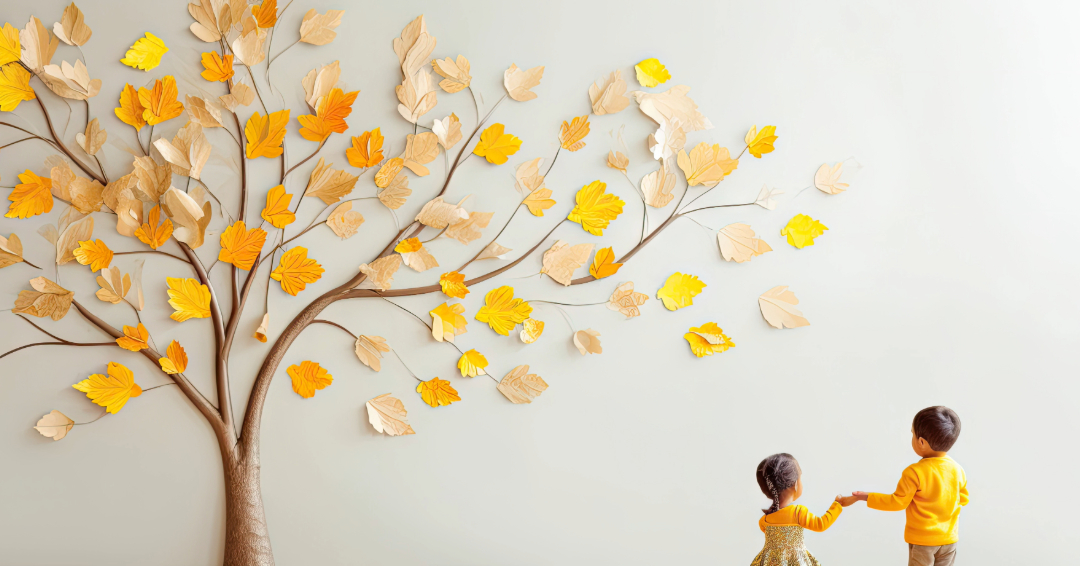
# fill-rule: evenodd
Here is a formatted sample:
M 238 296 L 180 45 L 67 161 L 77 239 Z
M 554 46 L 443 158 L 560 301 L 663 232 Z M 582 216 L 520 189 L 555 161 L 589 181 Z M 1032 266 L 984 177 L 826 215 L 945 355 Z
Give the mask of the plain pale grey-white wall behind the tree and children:
M 51 26 L 63 5 L 5 2 L 0 17 L 22 27 L 32 12 Z M 141 85 L 175 73 L 181 94 L 221 94 L 220 85 L 197 76 L 203 44 L 187 31 L 185 2 L 80 5 L 94 29 L 83 51 L 91 72 L 105 80 L 91 106 L 110 139 L 133 143 L 132 130 L 112 117 L 123 82 Z M 356 362 L 340 332 L 307 331 L 279 372 L 265 417 L 262 486 L 279 564 L 748 563 L 761 545 L 758 510 L 767 503 L 753 479 L 758 460 L 780 450 L 796 455 L 806 473 L 801 502 L 815 512 L 838 493 L 889 490 L 915 458 L 910 418 L 932 404 L 949 405 L 963 419 L 953 453 L 969 473 L 972 493 L 961 518 L 961 563 L 1035 564 L 1067 556 L 1070 526 L 1057 513 L 1080 463 L 1071 449 L 1078 367 L 1070 353 L 1080 315 L 1074 288 L 1080 273 L 1074 247 L 1080 204 L 1080 142 L 1072 133 L 1080 118 L 1076 6 L 297 0 L 280 24 L 275 52 L 295 39 L 309 6 L 347 9 L 339 37 L 282 56 L 274 77 L 283 98 L 267 93 L 267 104 L 276 109 L 284 100 L 294 117 L 302 113 L 300 77 L 316 64 L 341 59 L 343 80 L 362 90 L 350 133 L 382 126 L 394 152 L 411 129 L 394 111 L 400 75 L 391 39 L 416 15 L 427 15 L 437 56 L 470 57 L 474 86 L 488 105 L 501 95 L 502 70 L 511 63 L 546 66 L 537 100 L 504 103 L 496 114 L 525 140 L 522 151 L 500 167 L 471 159 L 449 190 L 449 200 L 476 193 L 480 210 L 497 211 L 494 224 L 505 220 L 517 198 L 512 164 L 550 158 L 561 121 L 589 110 L 589 85 L 615 68 L 633 82 L 632 65 L 650 56 L 669 66 L 671 84 L 692 86 L 716 124 L 692 134 L 691 144 L 741 147 L 752 124 L 779 126 L 777 151 L 760 161 L 744 159 L 707 202 L 753 200 L 762 184 L 787 194 L 774 212 L 700 215 L 713 227 L 752 224 L 775 248 L 771 254 L 746 265 L 724 262 L 714 237 L 681 220 L 615 278 L 652 294 L 671 272 L 697 273 L 708 287 L 692 308 L 672 313 L 653 299 L 632 321 L 604 307 L 570 309 L 579 327 L 603 333 L 603 355 L 580 356 L 548 306 L 537 306 L 548 329 L 536 345 L 495 335 L 471 316 L 498 283 L 474 288 L 464 301 L 470 326 L 461 345 L 485 352 L 499 377 L 516 364 L 531 364 L 551 388 L 529 406 L 508 403 L 487 378 L 451 377 L 457 353 L 392 307 L 375 300 L 332 307 L 325 316 L 386 336 L 415 372 L 450 379 L 464 401 L 427 407 L 395 360 L 374 374 Z M 144 73 L 117 63 L 147 30 L 172 49 L 162 66 Z M 57 60 L 77 56 L 62 45 Z M 256 72 L 261 77 L 264 69 Z M 64 103 L 44 96 L 63 122 Z M 438 96 L 429 122 L 453 110 L 471 127 L 468 94 Z M 81 123 L 76 108 L 69 136 Z M 43 127 L 36 105 L 24 104 L 16 113 Z M 636 241 L 639 202 L 603 162 L 611 147 L 608 133 L 623 124 L 633 178 L 651 171 L 644 137 L 653 125 L 646 117 L 632 107 L 595 118 L 588 147 L 562 156 L 549 178 L 558 205 L 543 218 L 518 215 L 502 242 L 528 247 L 570 208 L 577 188 L 598 178 L 627 202 L 603 242 L 618 252 L 629 248 Z M 180 125 L 183 119 L 174 120 L 158 132 L 172 136 Z M 291 130 L 295 163 L 313 144 L 296 136 L 295 118 Z M 222 134 L 211 139 L 234 154 Z M 340 166 L 347 144 L 347 136 L 335 136 L 324 154 Z M 45 154 L 40 144 L 4 150 L 3 185 L 23 169 L 43 173 Z M 863 165 L 850 191 L 799 193 L 819 164 L 849 157 Z M 129 160 L 116 146 L 106 149 L 113 175 L 126 172 Z M 414 179 L 416 192 L 403 217 L 437 191 L 441 160 L 432 166 L 430 178 Z M 256 203 L 276 167 L 276 161 L 257 163 Z M 291 178 L 291 192 L 302 190 L 310 169 Z M 356 194 L 374 190 L 369 175 Z M 232 194 L 234 176 L 225 161 L 207 173 L 219 194 Z M 359 237 L 340 242 L 320 228 L 305 238 L 327 273 L 298 298 L 274 285 L 274 336 L 303 299 L 337 285 L 384 245 L 393 224 L 374 202 L 361 206 L 367 223 Z M 301 220 L 320 208 L 305 203 Z M 55 221 L 59 210 L 48 219 Z M 797 213 L 831 228 L 818 245 L 799 251 L 783 243 L 779 230 Z M 110 217 L 97 217 L 96 234 L 126 248 Z M 656 212 L 652 217 L 660 218 Z M 48 262 L 48 245 L 33 234 L 41 224 L 0 219 L 0 230 L 17 231 L 28 257 Z M 220 226 L 212 230 L 216 234 Z M 597 240 L 571 225 L 557 235 Z M 432 248 L 445 265 L 473 253 L 451 241 Z M 208 260 L 216 245 L 202 252 Z M 132 261 L 123 256 L 117 264 L 130 269 Z M 405 271 L 400 285 L 435 277 Z M 570 302 L 604 300 L 616 283 L 563 289 L 528 278 L 537 271 L 539 259 L 530 259 L 500 281 L 515 285 L 518 296 Z M 210 345 L 208 321 L 180 325 L 167 319 L 163 278 L 185 273 L 168 258 L 148 258 L 146 320 L 159 343 L 178 338 L 188 347 L 194 360 L 188 374 L 212 394 L 207 359 L 198 353 Z M 10 304 L 36 274 L 25 266 L 0 273 L 2 301 Z M 60 277 L 95 312 L 118 325 L 132 323 L 126 307 L 90 296 L 95 286 L 85 268 L 69 265 Z M 756 297 L 778 284 L 798 294 L 812 326 L 781 332 L 765 324 Z M 242 338 L 254 329 L 261 300 L 259 291 Z M 443 300 L 440 295 L 403 302 L 426 313 Z M 706 321 L 718 322 L 738 347 L 692 358 L 681 334 Z M 58 324 L 46 322 L 71 339 L 99 337 L 73 312 Z M 2 327 L 4 350 L 31 335 L 14 318 Z M 238 413 L 266 349 L 239 341 L 232 360 Z M 140 356 L 103 349 L 39 348 L 0 362 L 3 564 L 219 560 L 217 447 L 178 392 L 148 392 L 119 416 L 77 428 L 60 443 L 30 429 L 52 408 L 79 421 L 96 416 L 98 407 L 70 385 L 100 372 L 109 359 L 130 364 L 144 387 L 164 382 Z M 306 359 L 335 376 L 313 400 L 294 394 L 284 374 L 285 365 Z M 386 437 L 367 425 L 364 402 L 387 392 L 404 400 L 415 436 Z M 860 503 L 834 528 L 807 540 L 824 564 L 899 566 L 906 564 L 903 522 L 902 513 Z

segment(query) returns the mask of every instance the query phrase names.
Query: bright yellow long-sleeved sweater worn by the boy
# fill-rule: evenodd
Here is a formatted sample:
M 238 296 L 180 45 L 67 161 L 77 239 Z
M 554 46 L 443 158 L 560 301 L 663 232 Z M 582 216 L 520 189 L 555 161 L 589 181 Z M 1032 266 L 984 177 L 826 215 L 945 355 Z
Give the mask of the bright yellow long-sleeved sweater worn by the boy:
M 866 507 L 907 511 L 904 541 L 941 547 L 959 540 L 960 508 L 968 504 L 968 476 L 948 456 L 923 458 L 904 470 L 894 494 L 869 494 Z

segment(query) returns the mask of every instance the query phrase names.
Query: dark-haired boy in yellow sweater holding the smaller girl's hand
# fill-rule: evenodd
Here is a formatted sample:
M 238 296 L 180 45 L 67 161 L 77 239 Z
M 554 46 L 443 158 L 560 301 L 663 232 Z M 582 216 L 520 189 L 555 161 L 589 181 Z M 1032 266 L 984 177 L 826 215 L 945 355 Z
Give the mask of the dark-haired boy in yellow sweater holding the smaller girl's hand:
M 960 417 L 948 407 L 927 407 L 912 422 L 912 448 L 922 459 L 908 466 L 894 494 L 851 495 L 879 511 L 907 511 L 904 541 L 908 566 L 951 566 L 959 540 L 960 508 L 968 504 L 968 477 L 948 457 L 960 436 Z

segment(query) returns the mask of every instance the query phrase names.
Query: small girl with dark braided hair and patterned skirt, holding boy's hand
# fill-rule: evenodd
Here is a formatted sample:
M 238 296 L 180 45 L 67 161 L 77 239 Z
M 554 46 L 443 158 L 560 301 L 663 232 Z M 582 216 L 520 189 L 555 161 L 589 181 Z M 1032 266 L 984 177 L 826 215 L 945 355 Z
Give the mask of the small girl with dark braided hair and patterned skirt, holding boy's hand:
M 773 454 L 757 464 L 757 485 L 772 506 L 764 509 L 757 523 L 765 533 L 765 548 L 751 566 L 819 566 L 802 544 L 802 529 L 821 533 L 840 516 L 842 507 L 855 502 L 854 496 L 836 496 L 824 515 L 813 516 L 807 508 L 792 504 L 802 495 L 802 470 L 791 454 Z

